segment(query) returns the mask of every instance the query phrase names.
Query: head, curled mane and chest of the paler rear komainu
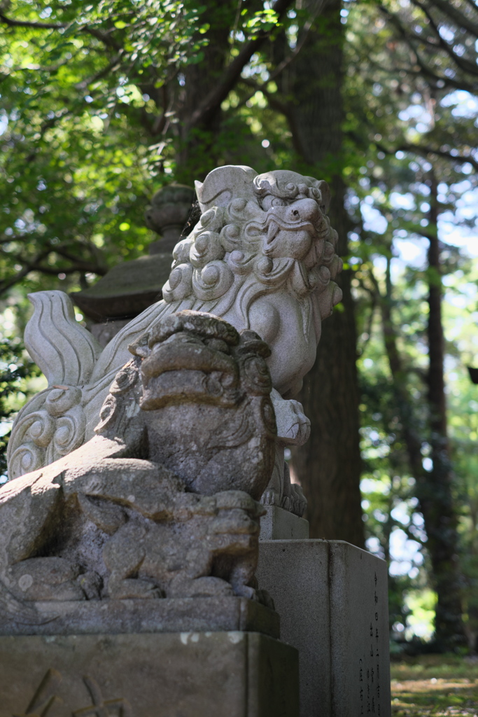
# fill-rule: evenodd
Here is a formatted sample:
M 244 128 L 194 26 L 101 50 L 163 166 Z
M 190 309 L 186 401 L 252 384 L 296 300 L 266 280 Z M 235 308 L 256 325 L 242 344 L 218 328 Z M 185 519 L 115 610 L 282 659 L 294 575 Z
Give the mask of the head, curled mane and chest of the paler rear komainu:
M 164 310 L 208 311 L 257 331 L 272 348 L 274 388 L 291 396 L 314 363 L 322 319 L 342 298 L 328 184 L 224 166 L 196 182 L 196 194 L 201 219 L 173 251 Z

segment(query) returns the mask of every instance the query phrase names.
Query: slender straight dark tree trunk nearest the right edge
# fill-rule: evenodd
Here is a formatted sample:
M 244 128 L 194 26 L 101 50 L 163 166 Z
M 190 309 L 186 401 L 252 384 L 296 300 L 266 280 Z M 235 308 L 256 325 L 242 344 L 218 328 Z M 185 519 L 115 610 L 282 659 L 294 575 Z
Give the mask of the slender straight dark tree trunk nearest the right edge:
M 435 630 L 437 642 L 444 647 L 464 644 L 461 579 L 458 564 L 457 513 L 452 494 L 453 469 L 446 428 L 444 381 L 444 333 L 441 320 L 441 257 L 438 238 L 438 189 L 434 171 L 430 173 L 429 210 L 429 429 L 432 468 L 419 483 L 424 514 L 427 548 L 433 569 L 438 602 Z

